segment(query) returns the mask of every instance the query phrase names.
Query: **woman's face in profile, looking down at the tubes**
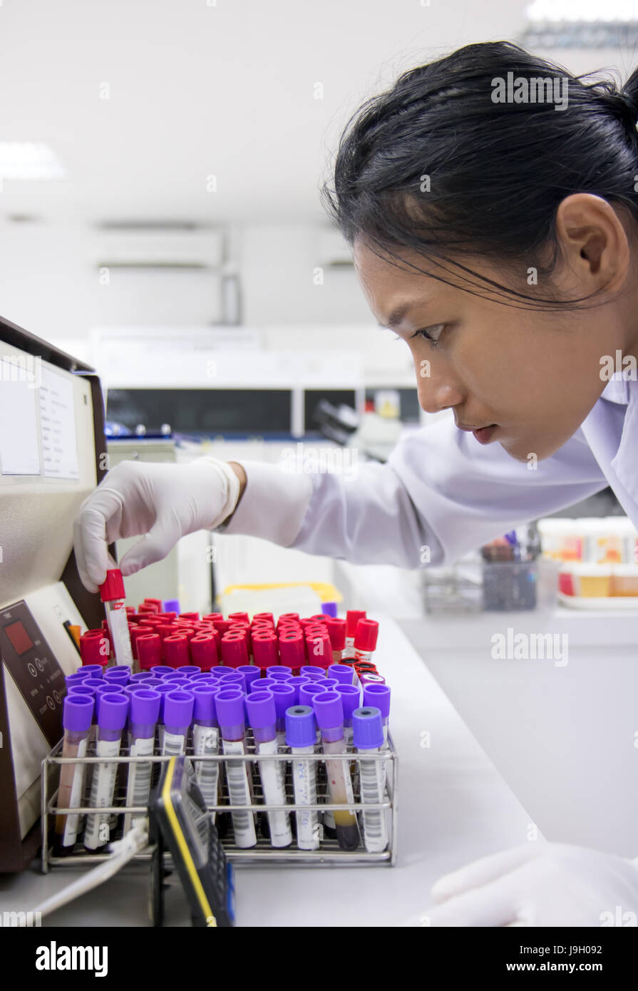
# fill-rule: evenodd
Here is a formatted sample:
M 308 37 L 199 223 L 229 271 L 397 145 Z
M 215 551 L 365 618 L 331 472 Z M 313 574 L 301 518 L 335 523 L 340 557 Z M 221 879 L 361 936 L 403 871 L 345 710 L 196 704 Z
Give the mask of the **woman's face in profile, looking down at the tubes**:
M 622 347 L 615 310 L 518 309 L 398 268 L 361 240 L 354 254 L 373 315 L 407 342 L 426 412 L 452 408 L 460 429 L 477 430 L 480 443 L 498 442 L 520 461 L 540 461 L 569 440 L 606 385 L 601 357 Z M 428 271 L 418 256 L 402 257 Z M 505 281 L 480 261 L 463 264 Z M 570 279 L 575 295 L 585 295 L 576 282 Z M 484 291 L 476 281 L 472 287 Z M 534 291 L 524 282 L 515 288 Z M 435 340 L 427 340 L 423 330 Z

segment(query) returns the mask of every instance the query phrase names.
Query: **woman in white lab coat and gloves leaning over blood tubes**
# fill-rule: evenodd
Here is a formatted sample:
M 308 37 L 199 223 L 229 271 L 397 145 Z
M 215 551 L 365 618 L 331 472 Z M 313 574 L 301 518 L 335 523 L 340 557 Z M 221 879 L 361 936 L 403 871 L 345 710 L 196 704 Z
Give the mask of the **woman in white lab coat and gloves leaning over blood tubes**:
M 637 119 L 638 71 L 618 91 L 506 43 L 369 101 L 325 197 L 372 313 L 410 348 L 421 406 L 454 419 L 356 482 L 212 458 L 121 464 L 75 523 L 86 587 L 104 580 L 107 542 L 135 534 L 125 575 L 200 528 L 417 568 L 607 485 L 638 527 Z M 529 843 L 434 896 L 432 925 L 600 926 L 614 906 L 638 914 L 638 863 Z

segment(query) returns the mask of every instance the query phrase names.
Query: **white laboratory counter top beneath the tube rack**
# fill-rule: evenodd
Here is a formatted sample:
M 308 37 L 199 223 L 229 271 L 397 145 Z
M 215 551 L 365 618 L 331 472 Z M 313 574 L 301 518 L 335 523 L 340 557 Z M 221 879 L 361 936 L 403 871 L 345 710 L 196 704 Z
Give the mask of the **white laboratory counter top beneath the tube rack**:
M 398 857 L 352 867 L 236 870 L 242 927 L 400 926 L 424 913 L 441 874 L 525 842 L 531 818 L 478 746 L 417 652 L 389 617 L 379 620 L 377 667 L 392 688 L 391 731 L 399 760 Z M 429 743 L 425 746 L 424 743 Z M 51 926 L 145 927 L 147 874 L 140 863 L 43 920 Z M 76 876 L 53 868 L 0 877 L 0 911 L 28 910 Z M 188 926 L 178 882 L 166 924 Z

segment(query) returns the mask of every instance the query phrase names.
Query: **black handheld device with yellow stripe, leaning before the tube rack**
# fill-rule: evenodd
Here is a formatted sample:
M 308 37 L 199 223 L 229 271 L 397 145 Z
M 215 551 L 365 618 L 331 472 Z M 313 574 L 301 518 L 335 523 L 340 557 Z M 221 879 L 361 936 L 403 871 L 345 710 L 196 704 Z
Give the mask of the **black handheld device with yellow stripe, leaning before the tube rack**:
M 160 926 L 163 917 L 163 850 L 167 849 L 190 904 L 193 926 L 233 926 L 233 868 L 187 757 L 171 757 L 163 766 L 149 812 L 152 839 L 157 843 L 152 902 L 155 925 Z

